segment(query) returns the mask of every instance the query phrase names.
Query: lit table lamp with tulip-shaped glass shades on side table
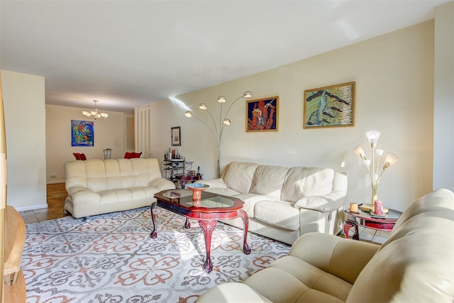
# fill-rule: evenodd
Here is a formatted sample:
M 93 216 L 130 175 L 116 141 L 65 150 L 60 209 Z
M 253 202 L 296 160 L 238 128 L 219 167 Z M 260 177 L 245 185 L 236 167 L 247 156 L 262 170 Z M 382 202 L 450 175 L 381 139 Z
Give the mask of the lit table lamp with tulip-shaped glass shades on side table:
M 355 148 L 353 148 L 353 151 L 360 156 L 362 162 L 364 162 L 364 164 L 367 167 L 367 170 L 369 171 L 370 181 L 372 183 L 372 202 L 371 202 L 372 209 L 375 204 L 375 200 L 377 200 L 377 187 L 384 170 L 386 170 L 389 166 L 393 165 L 397 160 L 399 160 L 399 157 L 397 157 L 397 155 L 394 155 L 393 153 L 387 153 L 383 161 L 382 171 L 380 172 L 379 175 L 378 172 L 380 168 L 380 158 L 382 157 L 384 150 L 382 150 L 381 148 L 376 148 L 376 146 L 378 138 L 380 137 L 381 134 L 382 133 L 380 133 L 380 131 L 376 131 L 375 129 L 367 131 L 366 133 L 367 141 L 369 141 L 370 148 L 372 148 L 372 155 L 370 159 L 366 158 L 366 155 L 361 145 L 358 145 Z

